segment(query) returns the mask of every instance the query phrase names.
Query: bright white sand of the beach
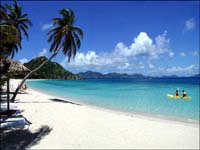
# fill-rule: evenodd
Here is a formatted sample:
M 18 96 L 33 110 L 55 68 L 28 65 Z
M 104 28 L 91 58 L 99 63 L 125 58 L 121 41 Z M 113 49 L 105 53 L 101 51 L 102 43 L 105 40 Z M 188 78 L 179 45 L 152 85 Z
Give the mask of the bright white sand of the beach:
M 11 82 L 16 85 L 19 81 Z M 18 94 L 16 99 L 24 110 L 22 114 L 32 122 L 30 133 L 43 134 L 48 129 L 37 142 L 27 145 L 31 149 L 199 148 L 199 125 L 63 103 L 61 98 L 33 89 L 28 89 L 28 94 Z

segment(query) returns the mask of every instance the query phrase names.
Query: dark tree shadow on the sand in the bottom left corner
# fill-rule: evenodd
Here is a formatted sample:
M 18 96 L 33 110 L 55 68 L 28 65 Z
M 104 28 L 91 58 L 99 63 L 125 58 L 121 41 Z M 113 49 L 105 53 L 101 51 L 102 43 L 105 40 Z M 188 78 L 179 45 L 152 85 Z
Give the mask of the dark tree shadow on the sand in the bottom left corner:
M 22 150 L 37 144 L 44 136 L 51 132 L 48 126 L 42 126 L 36 132 L 29 130 L 10 130 L 0 133 L 0 145 L 2 150 Z

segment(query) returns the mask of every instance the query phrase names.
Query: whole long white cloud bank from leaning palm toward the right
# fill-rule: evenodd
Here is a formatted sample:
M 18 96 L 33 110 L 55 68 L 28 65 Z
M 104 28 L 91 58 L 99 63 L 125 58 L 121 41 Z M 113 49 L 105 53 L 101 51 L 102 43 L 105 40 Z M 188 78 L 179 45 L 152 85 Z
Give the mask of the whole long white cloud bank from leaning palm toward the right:
M 66 57 L 61 65 L 68 69 L 77 70 L 77 72 L 87 70 L 109 72 L 113 70 L 133 73 L 145 69 L 153 70 L 156 67 L 151 61 L 162 55 L 165 57 L 174 56 L 174 52 L 169 49 L 169 42 L 167 31 L 155 37 L 154 40 L 146 32 L 140 32 L 129 46 L 119 42 L 109 53 L 99 53 L 94 50 L 78 52 L 70 63 Z

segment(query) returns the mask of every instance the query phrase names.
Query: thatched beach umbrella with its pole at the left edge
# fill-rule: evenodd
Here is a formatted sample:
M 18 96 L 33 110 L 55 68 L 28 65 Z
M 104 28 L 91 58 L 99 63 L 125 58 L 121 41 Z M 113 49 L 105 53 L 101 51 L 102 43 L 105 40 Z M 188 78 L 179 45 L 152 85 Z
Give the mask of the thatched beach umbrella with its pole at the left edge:
M 0 59 L 0 78 L 1 81 L 6 81 L 7 82 L 7 111 L 9 113 L 10 109 L 10 99 L 9 99 L 9 93 L 10 93 L 10 83 L 9 80 L 11 77 L 17 74 L 25 74 L 30 72 L 28 68 L 26 68 L 24 65 L 22 65 L 18 61 L 14 61 L 9 58 L 3 58 Z M 1 98 L 1 96 L 0 96 Z

